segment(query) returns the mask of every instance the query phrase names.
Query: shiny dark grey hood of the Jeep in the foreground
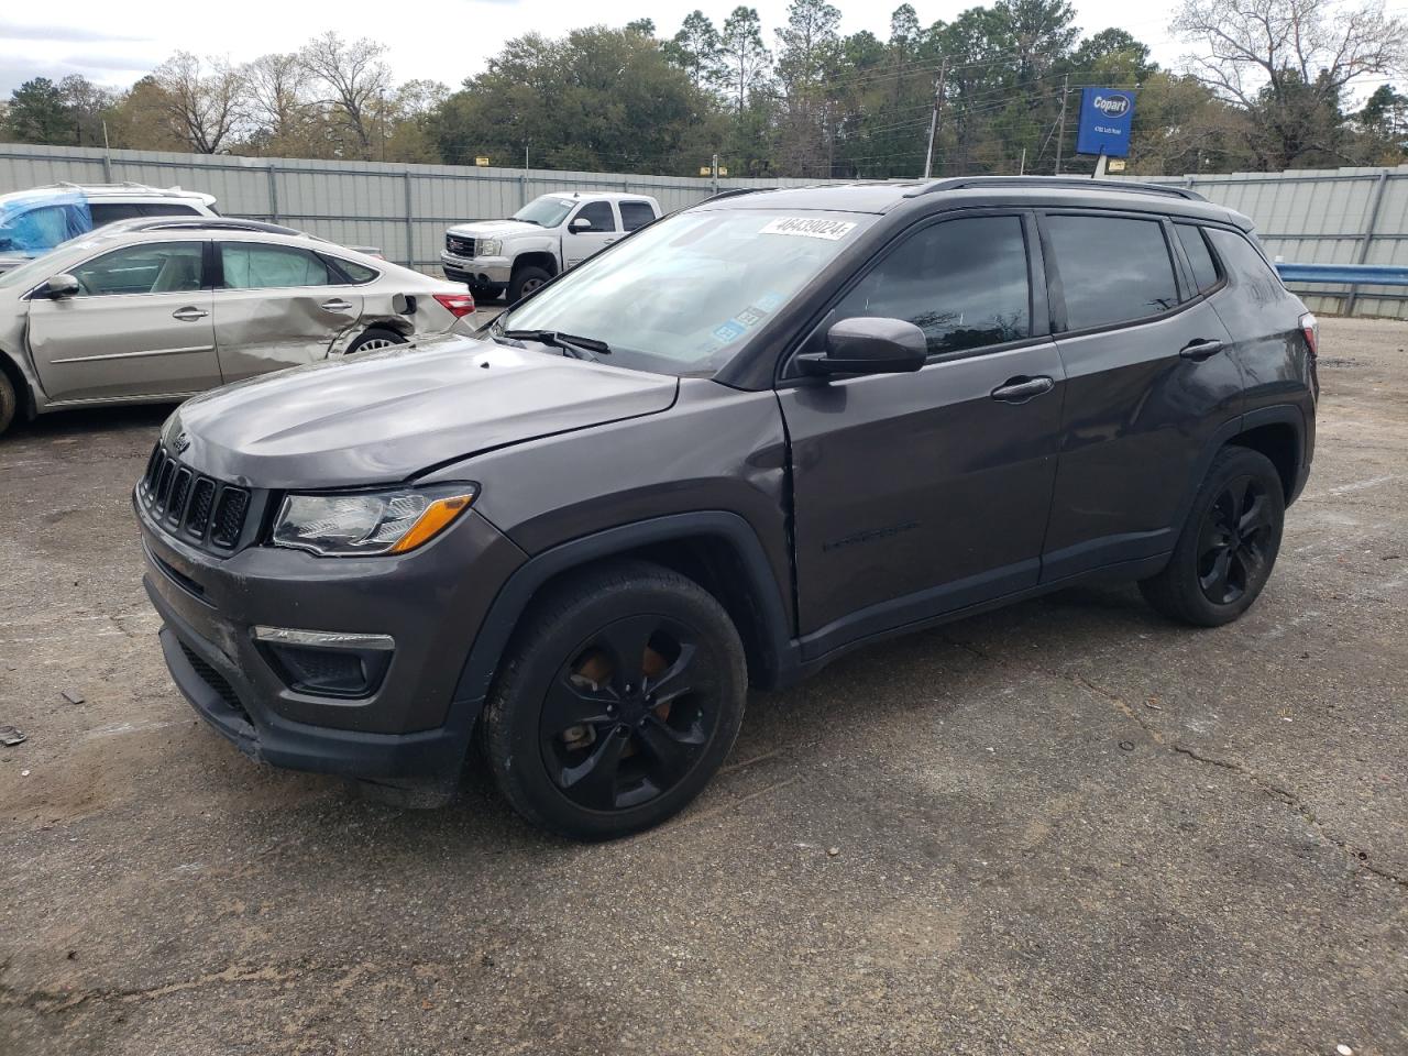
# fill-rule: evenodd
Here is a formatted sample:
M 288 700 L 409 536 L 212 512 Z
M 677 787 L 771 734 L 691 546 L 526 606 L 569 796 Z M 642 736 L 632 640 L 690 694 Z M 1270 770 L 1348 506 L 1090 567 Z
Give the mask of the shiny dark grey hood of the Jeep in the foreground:
M 168 449 L 249 487 L 349 487 L 659 414 L 679 379 L 451 337 L 265 375 L 182 404 Z M 184 436 L 184 439 L 182 439 Z

